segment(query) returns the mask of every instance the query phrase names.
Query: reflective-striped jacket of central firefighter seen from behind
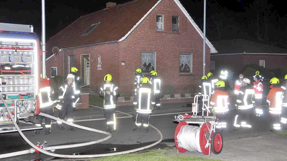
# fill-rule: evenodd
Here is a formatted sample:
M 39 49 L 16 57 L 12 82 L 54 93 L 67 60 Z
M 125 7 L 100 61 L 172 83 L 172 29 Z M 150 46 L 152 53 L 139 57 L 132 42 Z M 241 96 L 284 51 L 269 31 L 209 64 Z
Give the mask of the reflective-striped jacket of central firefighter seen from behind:
M 142 114 L 151 114 L 152 107 L 155 106 L 155 96 L 149 84 L 140 84 L 140 88 L 136 92 L 133 105 L 136 112 Z

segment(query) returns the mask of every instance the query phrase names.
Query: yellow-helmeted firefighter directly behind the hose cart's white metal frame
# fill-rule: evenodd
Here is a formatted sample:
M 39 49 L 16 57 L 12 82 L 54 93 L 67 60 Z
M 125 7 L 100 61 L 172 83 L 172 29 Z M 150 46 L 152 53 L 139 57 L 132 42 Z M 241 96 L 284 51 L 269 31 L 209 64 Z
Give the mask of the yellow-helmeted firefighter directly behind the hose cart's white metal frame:
M 207 77 L 205 75 L 203 75 L 201 77 L 201 83 L 199 84 L 199 89 L 198 89 L 198 94 L 199 95 L 208 95 L 208 98 L 210 99 L 211 97 L 211 83 L 207 80 Z M 204 110 L 207 109 L 208 110 L 208 98 L 206 96 L 202 96 L 202 101 L 204 102 Z

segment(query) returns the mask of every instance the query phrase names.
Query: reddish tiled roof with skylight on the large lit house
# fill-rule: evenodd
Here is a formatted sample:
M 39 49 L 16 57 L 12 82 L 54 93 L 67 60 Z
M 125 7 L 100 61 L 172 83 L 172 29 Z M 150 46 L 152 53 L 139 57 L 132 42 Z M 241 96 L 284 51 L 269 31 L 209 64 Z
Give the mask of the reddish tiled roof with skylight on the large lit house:
M 47 41 L 47 57 L 54 46 L 77 47 L 121 39 L 156 4 L 158 0 L 134 0 L 115 7 L 105 8 L 74 21 Z M 88 35 L 82 34 L 100 22 Z

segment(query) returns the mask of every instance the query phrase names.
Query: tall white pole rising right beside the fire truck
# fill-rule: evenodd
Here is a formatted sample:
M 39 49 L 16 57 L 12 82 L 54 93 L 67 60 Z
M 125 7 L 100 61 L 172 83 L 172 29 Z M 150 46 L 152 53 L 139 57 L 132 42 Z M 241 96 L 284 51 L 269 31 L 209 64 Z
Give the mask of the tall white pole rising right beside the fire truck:
M 46 78 L 46 20 L 45 0 L 42 0 L 42 78 Z M 38 73 L 36 73 L 38 74 Z

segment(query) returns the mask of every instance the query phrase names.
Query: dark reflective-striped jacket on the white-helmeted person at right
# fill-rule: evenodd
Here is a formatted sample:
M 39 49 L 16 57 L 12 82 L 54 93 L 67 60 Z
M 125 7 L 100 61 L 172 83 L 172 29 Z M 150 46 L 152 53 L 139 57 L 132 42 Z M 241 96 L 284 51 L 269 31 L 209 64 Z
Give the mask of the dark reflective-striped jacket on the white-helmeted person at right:
M 249 88 L 249 89 L 248 89 Z M 243 86 L 240 88 L 239 95 L 237 96 L 236 106 L 238 109 L 250 109 L 253 108 L 252 95 L 254 90 L 250 89 L 248 86 Z

